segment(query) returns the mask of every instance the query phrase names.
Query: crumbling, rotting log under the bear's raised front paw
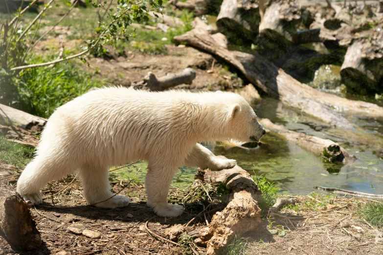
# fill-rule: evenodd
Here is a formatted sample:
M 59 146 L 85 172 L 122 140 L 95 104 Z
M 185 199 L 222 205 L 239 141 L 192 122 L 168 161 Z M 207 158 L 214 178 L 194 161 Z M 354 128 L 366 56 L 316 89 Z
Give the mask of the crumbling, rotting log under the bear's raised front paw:
M 257 200 L 261 192 L 250 174 L 239 166 L 221 171 L 199 169 L 197 177 L 212 184 L 223 183 L 228 191 L 226 208 L 216 212 L 209 226 L 200 232 L 201 240 L 207 244 L 206 255 L 220 255 L 236 235 L 258 227 L 261 210 Z

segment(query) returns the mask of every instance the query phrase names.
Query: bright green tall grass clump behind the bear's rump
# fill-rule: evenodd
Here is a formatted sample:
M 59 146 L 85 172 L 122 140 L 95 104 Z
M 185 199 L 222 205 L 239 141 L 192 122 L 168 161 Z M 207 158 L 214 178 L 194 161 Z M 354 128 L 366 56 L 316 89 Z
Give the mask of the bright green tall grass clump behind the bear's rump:
M 49 59 L 31 56 L 29 63 L 46 61 Z M 73 61 L 46 69 L 25 69 L 16 80 L 18 95 L 14 103 L 24 111 L 48 118 L 58 106 L 87 92 L 93 86 L 100 87 L 101 81 L 92 80 L 93 75 Z

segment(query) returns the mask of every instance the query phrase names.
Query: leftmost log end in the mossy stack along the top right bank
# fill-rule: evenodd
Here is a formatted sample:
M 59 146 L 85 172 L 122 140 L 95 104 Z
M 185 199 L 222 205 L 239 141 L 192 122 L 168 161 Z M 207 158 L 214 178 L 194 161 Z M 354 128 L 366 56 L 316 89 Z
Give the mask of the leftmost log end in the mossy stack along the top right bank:
M 231 39 L 252 40 L 258 33 L 258 7 L 252 0 L 224 0 L 216 21 L 218 31 Z

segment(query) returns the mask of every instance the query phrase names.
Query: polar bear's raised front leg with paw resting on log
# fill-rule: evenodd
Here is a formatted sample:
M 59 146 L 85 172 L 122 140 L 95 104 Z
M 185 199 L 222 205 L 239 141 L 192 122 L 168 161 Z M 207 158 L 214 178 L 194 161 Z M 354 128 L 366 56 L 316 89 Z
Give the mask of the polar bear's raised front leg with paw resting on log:
M 213 154 L 209 149 L 196 144 L 190 154 L 186 157 L 184 164 L 188 167 L 200 167 L 213 171 L 230 169 L 237 165 L 233 159 L 222 159 Z

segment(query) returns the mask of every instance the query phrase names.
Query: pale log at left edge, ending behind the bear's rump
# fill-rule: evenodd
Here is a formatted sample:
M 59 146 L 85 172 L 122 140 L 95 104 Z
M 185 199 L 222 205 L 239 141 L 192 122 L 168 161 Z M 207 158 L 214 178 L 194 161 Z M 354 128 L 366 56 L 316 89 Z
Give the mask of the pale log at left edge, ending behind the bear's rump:
M 21 110 L 0 104 L 0 125 L 21 127 L 31 132 L 40 132 L 46 119 L 34 116 Z

